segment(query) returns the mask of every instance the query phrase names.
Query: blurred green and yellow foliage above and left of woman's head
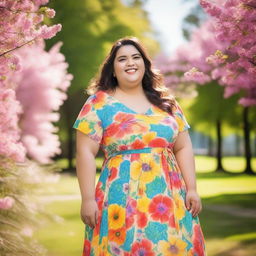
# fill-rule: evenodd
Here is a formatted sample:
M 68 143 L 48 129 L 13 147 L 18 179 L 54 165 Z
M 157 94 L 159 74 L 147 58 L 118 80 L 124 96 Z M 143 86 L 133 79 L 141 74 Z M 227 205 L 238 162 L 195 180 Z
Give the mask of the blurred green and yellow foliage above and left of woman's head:
M 61 23 L 63 29 L 48 44 L 64 42 L 62 52 L 74 75 L 71 95 L 87 87 L 118 38 L 138 36 L 151 50 L 157 48 L 146 13 L 139 6 L 126 6 L 120 0 L 76 0 L 51 1 L 50 7 L 56 10 L 53 22 Z

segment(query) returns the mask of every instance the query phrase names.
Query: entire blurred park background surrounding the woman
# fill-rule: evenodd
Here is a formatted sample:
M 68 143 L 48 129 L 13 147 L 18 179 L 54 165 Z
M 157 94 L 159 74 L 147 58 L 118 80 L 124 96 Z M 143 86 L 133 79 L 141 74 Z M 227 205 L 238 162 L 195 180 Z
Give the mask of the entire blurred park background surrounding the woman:
M 19 64 L 10 57 L 13 59 L 9 67 L 16 68 L 9 73 L 1 71 L 0 100 L 6 108 L 0 110 L 0 116 L 6 116 L 6 112 L 12 118 L 15 116 L 15 120 L 1 117 L 5 129 L 2 128 L 0 143 L 3 184 L 0 220 L 9 218 L 24 236 L 19 238 L 20 242 L 33 239 L 34 250 L 41 249 L 37 254 L 32 249 L 27 254 L 18 254 L 14 236 L 9 237 L 2 228 L 1 255 L 81 255 L 84 226 L 79 217 L 81 199 L 75 175 L 72 126 L 88 97 L 85 89 L 90 80 L 97 74 L 112 43 L 124 36 L 136 36 L 146 46 L 154 67 L 164 74 L 165 84 L 177 97 L 191 126 L 198 192 L 203 203 L 200 221 L 208 255 L 255 255 L 256 44 L 252 35 L 256 28 L 252 17 L 256 6 L 253 1 L 216 1 L 219 9 L 208 1 L 201 1 L 200 5 L 194 0 L 32 2 L 34 9 L 25 4 L 0 6 L 8 17 L 17 16 L 10 11 L 12 8 L 23 13 L 29 10 L 38 14 L 40 10 L 44 24 L 54 30 L 43 27 L 41 34 L 36 34 L 41 40 L 27 43 L 31 35 L 26 34 L 28 25 L 24 24 L 28 23 L 23 22 L 22 16 L 19 19 L 22 26 L 17 25 L 17 30 L 22 28 L 24 42 L 15 39 L 16 44 L 6 43 L 8 47 L 1 50 L 1 56 L 6 56 L 11 49 Z M 224 4 L 226 11 L 221 9 Z M 232 15 L 239 17 L 236 25 Z M 17 20 L 12 18 L 9 22 L 14 24 Z M 7 36 L 2 38 L 6 40 Z M 26 45 L 20 47 L 22 43 Z M 7 62 L 1 60 L 0 64 L 2 68 Z M 9 134 L 10 128 L 6 127 L 15 130 L 16 135 Z M 22 156 L 17 153 L 21 150 Z M 103 158 L 99 152 L 98 176 Z M 14 189 L 21 181 L 10 182 L 10 177 L 14 180 L 13 177 L 21 176 L 25 177 L 22 189 Z M 25 213 L 24 209 L 31 207 L 27 204 L 33 193 L 37 210 Z M 16 219 L 18 212 L 31 219 Z M 4 225 L 15 231 L 8 223 Z M 13 247 L 7 239 L 13 239 Z M 10 252 L 13 254 L 7 254 Z

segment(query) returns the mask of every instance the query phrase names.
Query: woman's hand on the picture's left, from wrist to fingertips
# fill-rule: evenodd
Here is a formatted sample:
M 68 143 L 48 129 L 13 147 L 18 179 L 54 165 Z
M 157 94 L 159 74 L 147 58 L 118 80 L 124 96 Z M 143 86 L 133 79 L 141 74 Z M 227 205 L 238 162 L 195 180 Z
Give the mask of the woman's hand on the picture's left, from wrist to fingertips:
M 98 205 L 95 199 L 83 200 L 81 204 L 81 219 L 84 224 L 90 226 L 90 228 L 95 228 L 98 220 Z

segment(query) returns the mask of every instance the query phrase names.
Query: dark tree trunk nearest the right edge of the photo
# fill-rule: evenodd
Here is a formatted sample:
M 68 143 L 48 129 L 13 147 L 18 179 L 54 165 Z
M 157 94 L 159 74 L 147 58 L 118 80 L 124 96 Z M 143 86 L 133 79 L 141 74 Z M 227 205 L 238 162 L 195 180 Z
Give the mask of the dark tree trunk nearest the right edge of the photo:
M 244 152 L 246 159 L 246 167 L 244 173 L 246 174 L 255 174 L 252 171 L 251 166 L 251 147 L 250 147 L 250 123 L 249 123 L 249 107 L 245 107 L 243 110 L 243 130 L 244 130 Z

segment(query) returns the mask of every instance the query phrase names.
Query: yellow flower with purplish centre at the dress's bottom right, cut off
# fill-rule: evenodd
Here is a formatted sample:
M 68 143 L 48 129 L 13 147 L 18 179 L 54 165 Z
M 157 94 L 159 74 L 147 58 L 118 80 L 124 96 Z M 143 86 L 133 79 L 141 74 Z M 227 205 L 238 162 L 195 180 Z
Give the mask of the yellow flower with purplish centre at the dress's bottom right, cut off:
M 171 237 L 169 241 L 159 242 L 159 251 L 165 256 L 184 256 L 187 243 L 178 237 Z

